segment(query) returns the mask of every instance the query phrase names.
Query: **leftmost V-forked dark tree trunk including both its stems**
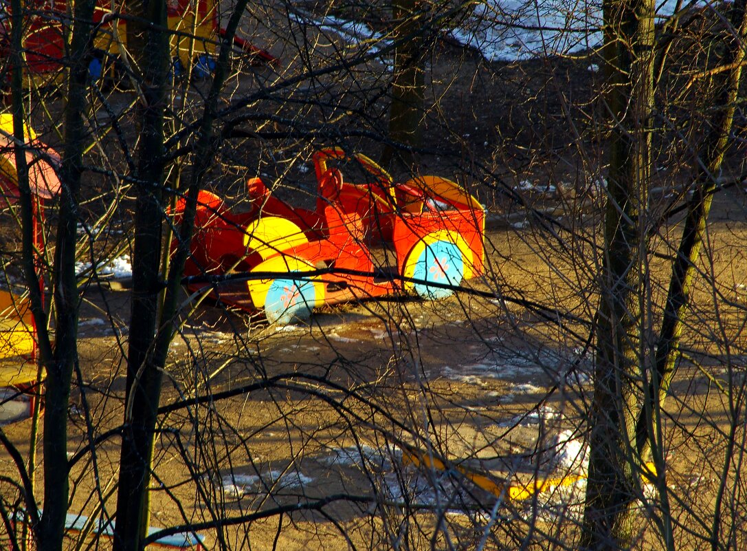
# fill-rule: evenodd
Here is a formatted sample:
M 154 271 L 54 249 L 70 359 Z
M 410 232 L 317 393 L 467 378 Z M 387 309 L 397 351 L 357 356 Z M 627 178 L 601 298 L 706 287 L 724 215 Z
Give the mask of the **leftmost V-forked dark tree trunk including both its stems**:
M 28 167 L 25 150 L 16 148 L 16 170 L 22 209 L 23 256 L 25 276 L 31 295 L 32 311 L 39 328 L 40 363 L 46 367 L 43 435 L 44 468 L 44 512 L 37 527 L 40 550 L 59 550 L 62 547 L 65 516 L 68 502 L 67 465 L 67 410 L 69 405 L 72 370 L 78 360 L 78 287 L 75 281 L 75 243 L 77 240 L 78 191 L 80 189 L 82 157 L 87 131 L 84 126 L 85 88 L 87 85 L 88 60 L 90 59 L 91 20 L 95 1 L 86 0 L 75 4 L 75 25 L 70 44 L 71 65 L 67 79 L 64 111 L 64 150 L 59 172 L 61 208 L 55 247 L 55 345 L 46 332 L 46 313 L 36 273 L 34 259 L 34 233 L 37 231 L 33 215 L 37 206 L 31 197 L 28 182 Z M 20 24 L 22 6 L 13 5 L 14 43 L 20 46 L 20 35 L 16 34 L 16 23 Z M 20 32 L 18 28 L 17 32 Z M 14 50 L 16 50 L 14 48 Z M 20 52 L 17 49 L 16 52 Z M 20 55 L 14 64 L 13 114 L 16 138 L 25 141 L 23 125 L 25 117 L 22 107 L 22 60 Z

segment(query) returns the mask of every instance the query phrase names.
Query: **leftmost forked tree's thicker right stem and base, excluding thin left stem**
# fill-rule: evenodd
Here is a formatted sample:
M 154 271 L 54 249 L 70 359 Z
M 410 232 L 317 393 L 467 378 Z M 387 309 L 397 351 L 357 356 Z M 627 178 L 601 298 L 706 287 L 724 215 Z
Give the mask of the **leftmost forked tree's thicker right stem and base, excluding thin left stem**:
M 60 213 L 55 242 L 55 346 L 52 351 L 40 339 L 40 360 L 46 366 L 43 461 L 44 513 L 37 536 L 39 550 L 56 551 L 62 547 L 69 493 L 67 465 L 67 410 L 70 382 L 78 361 L 78 307 L 80 298 L 75 280 L 78 191 L 81 184 L 82 158 L 88 132 L 84 124 L 85 89 L 91 54 L 90 24 L 93 0 L 75 4 L 73 11 L 71 65 L 67 79 L 64 111 L 64 150 L 59 171 L 61 181 Z M 28 221 L 25 221 L 28 224 Z M 31 230 L 33 232 L 35 230 Z M 33 254 L 33 252 L 31 253 Z M 38 289 L 36 277 L 27 274 L 31 289 Z M 42 312 L 41 300 L 34 310 Z M 34 312 L 37 315 L 37 312 Z M 43 324 L 37 316 L 37 327 Z M 51 357 L 50 357 L 51 353 Z

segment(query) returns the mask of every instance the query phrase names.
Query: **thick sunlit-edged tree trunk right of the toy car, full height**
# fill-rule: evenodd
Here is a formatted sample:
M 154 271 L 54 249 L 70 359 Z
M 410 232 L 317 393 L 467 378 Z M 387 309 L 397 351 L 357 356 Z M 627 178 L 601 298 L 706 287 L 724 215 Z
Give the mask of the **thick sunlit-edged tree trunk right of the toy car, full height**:
M 654 2 L 604 3 L 610 173 L 598 311 L 589 479 L 580 547 L 617 550 L 636 532 L 635 421 L 642 407 L 642 292 L 651 167 Z

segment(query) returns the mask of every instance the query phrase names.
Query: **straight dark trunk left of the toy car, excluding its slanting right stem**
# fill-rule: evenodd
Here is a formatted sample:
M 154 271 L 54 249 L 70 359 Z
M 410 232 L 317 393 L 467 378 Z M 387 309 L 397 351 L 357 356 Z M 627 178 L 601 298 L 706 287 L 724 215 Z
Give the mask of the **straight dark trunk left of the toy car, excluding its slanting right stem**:
M 132 305 L 127 355 L 125 430 L 120 455 L 114 550 L 135 551 L 149 524 L 148 486 L 161 369 L 151 348 L 161 303 L 161 236 L 164 224 L 164 112 L 169 43 L 164 0 L 131 3 L 128 45 L 142 75 L 137 200 L 134 216 Z

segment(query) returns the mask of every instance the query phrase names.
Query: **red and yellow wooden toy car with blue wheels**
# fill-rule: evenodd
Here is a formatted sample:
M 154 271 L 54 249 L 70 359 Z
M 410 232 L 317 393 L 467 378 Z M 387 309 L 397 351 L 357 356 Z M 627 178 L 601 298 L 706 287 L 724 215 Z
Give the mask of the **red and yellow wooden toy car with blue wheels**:
M 187 286 L 288 323 L 324 304 L 403 290 L 444 298 L 483 271 L 484 209 L 456 183 L 395 183 L 371 159 L 338 148 L 315 153 L 314 167 L 314 210 L 279 200 L 258 178 L 247 183 L 249 212 L 202 191 Z M 347 182 L 341 168 L 363 181 Z M 181 200 L 176 218 L 184 207 Z

